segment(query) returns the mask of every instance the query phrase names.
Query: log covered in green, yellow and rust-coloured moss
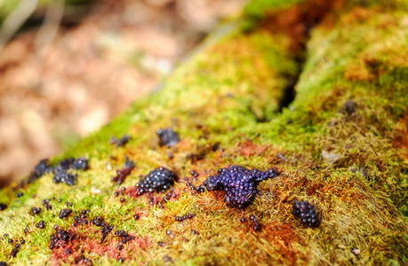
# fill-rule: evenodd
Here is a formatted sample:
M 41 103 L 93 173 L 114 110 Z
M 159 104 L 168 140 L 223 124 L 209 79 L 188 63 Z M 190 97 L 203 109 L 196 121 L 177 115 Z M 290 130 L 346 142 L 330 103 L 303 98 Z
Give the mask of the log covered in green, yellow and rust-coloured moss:
M 8 234 L 0 261 L 404 265 L 407 8 L 397 0 L 252 2 L 242 20 L 221 27 L 160 90 L 52 159 L 89 160 L 87 170 L 73 170 L 76 184 L 55 184 L 47 173 L 0 192 L 8 206 L 0 213 L 0 232 Z M 159 145 L 156 130 L 165 128 L 180 135 L 177 145 Z M 109 144 L 125 134 L 127 144 Z M 116 184 L 111 177 L 125 160 L 135 167 Z M 281 174 L 261 182 L 244 209 L 229 207 L 224 192 L 194 190 L 228 165 Z M 179 176 L 174 195 L 137 196 L 140 175 L 158 167 Z M 294 200 L 316 208 L 317 228 L 292 215 Z M 73 214 L 60 219 L 65 202 Z M 32 207 L 43 210 L 30 214 Z M 114 229 L 102 237 L 100 227 L 75 223 L 83 209 L 90 222 L 100 215 Z M 175 220 L 188 214 L 194 216 Z M 75 237 L 50 249 L 54 224 Z M 133 238 L 118 248 L 120 230 Z M 25 239 L 15 257 L 8 239 Z

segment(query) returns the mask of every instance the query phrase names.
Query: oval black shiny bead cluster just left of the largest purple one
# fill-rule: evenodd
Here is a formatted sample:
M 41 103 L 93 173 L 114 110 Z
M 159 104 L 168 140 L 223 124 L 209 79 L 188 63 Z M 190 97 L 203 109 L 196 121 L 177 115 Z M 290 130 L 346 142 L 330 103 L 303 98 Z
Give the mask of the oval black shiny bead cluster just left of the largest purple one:
M 140 179 L 136 184 L 137 195 L 145 192 L 164 192 L 168 190 L 177 179 L 176 174 L 167 168 L 156 168 Z

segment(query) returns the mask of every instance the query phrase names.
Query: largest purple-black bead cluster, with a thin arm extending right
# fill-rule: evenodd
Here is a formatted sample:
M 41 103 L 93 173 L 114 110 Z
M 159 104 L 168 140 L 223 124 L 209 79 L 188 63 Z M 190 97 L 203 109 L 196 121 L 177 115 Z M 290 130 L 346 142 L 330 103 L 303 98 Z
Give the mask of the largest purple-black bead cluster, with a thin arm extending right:
M 249 170 L 241 166 L 220 168 L 217 176 L 209 176 L 204 185 L 209 191 L 226 192 L 225 201 L 230 207 L 248 207 L 258 193 L 258 184 L 269 178 L 279 176 L 276 168 L 265 172 L 258 169 Z

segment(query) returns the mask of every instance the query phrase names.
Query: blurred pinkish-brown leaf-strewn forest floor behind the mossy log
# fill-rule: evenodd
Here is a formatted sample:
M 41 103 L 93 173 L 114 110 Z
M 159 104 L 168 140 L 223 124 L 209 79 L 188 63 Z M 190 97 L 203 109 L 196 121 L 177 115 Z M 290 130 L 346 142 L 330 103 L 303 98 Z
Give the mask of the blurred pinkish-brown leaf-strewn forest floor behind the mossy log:
M 245 2 L 101 0 L 68 8 L 62 1 L 52 7 L 63 12 L 55 25 L 36 10 L 0 51 L 0 184 L 28 175 L 154 90 Z

